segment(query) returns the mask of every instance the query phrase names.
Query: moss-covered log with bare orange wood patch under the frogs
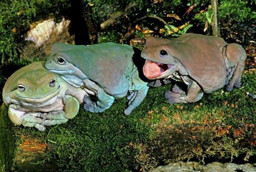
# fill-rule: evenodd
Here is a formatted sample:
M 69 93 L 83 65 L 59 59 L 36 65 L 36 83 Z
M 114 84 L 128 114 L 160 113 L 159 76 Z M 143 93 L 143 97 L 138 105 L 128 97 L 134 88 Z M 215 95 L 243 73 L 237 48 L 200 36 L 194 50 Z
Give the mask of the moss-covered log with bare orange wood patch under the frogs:
M 118 104 L 123 101 L 120 99 Z M 252 100 L 249 102 L 253 103 Z M 226 106 L 236 109 L 237 105 L 232 108 L 233 105 L 227 102 Z M 172 118 L 165 114 L 170 111 L 167 106 L 149 111 L 144 118 L 135 114 L 124 116 L 121 110 L 115 110 L 117 114 L 113 115 L 82 112 L 65 124 L 40 132 L 35 128 L 13 125 L 8 121 L 7 107 L 3 105 L 1 116 L 7 117 L 4 124 L 10 131 L 3 133 L 2 139 L 10 135 L 14 137 L 14 140 L 5 140 L 8 144 L 1 145 L 1 151 L 13 153 L 1 158 L 4 159 L 1 162 L 9 164 L 3 171 L 102 168 L 102 171 L 119 168 L 148 171 L 158 165 L 190 158 L 198 158 L 201 162 L 207 158 L 214 161 L 255 158 L 256 130 L 252 121 L 238 124 L 237 118 L 233 121 L 234 116 L 230 115 L 227 120 L 236 125 L 224 124 L 225 114 L 217 112 L 218 119 L 208 113 L 199 122 L 195 118 L 200 114 L 195 112 L 202 110 L 203 105 L 196 105 L 192 110 L 194 114 L 188 116 L 187 110 L 181 112 L 186 107 L 176 105 L 175 108 Z M 113 113 L 113 108 L 111 111 Z M 252 112 L 255 114 L 255 107 Z M 194 119 L 184 119 L 192 115 Z M 245 121 L 247 117 L 245 115 Z

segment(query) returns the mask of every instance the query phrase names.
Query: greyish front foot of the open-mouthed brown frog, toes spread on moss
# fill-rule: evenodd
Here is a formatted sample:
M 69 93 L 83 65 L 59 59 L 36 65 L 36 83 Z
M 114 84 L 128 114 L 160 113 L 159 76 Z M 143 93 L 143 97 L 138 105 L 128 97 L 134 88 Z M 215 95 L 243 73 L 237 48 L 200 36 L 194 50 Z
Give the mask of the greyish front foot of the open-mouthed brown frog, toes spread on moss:
M 185 101 L 185 92 L 180 90 L 178 86 L 172 87 L 172 91 L 168 90 L 164 93 L 164 97 L 168 99 L 169 104 L 187 103 Z

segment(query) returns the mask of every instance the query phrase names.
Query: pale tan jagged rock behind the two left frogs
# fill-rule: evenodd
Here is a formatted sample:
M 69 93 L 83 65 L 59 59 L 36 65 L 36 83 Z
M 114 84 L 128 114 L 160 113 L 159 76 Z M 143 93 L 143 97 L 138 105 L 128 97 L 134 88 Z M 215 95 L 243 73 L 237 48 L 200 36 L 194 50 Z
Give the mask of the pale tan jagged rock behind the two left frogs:
M 56 22 L 55 18 L 49 18 L 33 23 L 25 37 L 26 45 L 20 50 L 20 57 L 43 59 L 50 54 L 52 44 L 55 42 L 75 44 L 75 37 L 69 32 L 70 23 L 71 21 L 64 17 L 61 22 Z

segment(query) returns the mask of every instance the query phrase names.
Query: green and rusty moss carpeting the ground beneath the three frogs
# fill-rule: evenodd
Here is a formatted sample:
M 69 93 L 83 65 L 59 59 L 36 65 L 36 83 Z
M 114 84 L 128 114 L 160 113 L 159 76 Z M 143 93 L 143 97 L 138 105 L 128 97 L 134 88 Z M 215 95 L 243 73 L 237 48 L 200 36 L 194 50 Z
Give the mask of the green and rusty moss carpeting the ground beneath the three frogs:
M 123 114 L 128 103 L 125 98 L 116 99 L 103 113 L 86 112 L 81 105 L 75 118 L 47 127 L 44 132 L 14 126 L 2 106 L 1 137 L 5 139 L 0 139 L 0 162 L 5 169 L 22 171 L 12 154 L 20 135 L 46 143 L 44 159 L 31 163 L 35 168 L 43 166 L 44 171 L 51 170 L 49 164 L 61 171 L 148 171 L 189 159 L 202 164 L 209 158 L 221 162 L 236 158 L 253 161 L 256 101 L 245 94 L 255 94 L 253 66 L 247 64 L 239 89 L 204 94 L 195 103 L 168 104 L 163 94 L 175 84 L 180 83 L 149 89 L 142 104 L 128 116 Z M 3 151 L 2 147 L 6 149 Z

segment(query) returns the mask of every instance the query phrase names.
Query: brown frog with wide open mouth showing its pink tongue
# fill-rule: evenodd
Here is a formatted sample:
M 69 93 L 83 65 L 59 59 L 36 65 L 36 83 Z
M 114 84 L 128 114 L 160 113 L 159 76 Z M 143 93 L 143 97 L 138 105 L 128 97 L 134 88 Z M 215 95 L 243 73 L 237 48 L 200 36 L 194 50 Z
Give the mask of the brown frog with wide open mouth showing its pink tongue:
M 186 92 L 177 86 L 166 91 L 174 104 L 196 102 L 224 85 L 227 91 L 239 88 L 246 52 L 222 38 L 189 33 L 173 40 L 148 37 L 141 56 L 148 79 L 172 78 L 188 85 Z

